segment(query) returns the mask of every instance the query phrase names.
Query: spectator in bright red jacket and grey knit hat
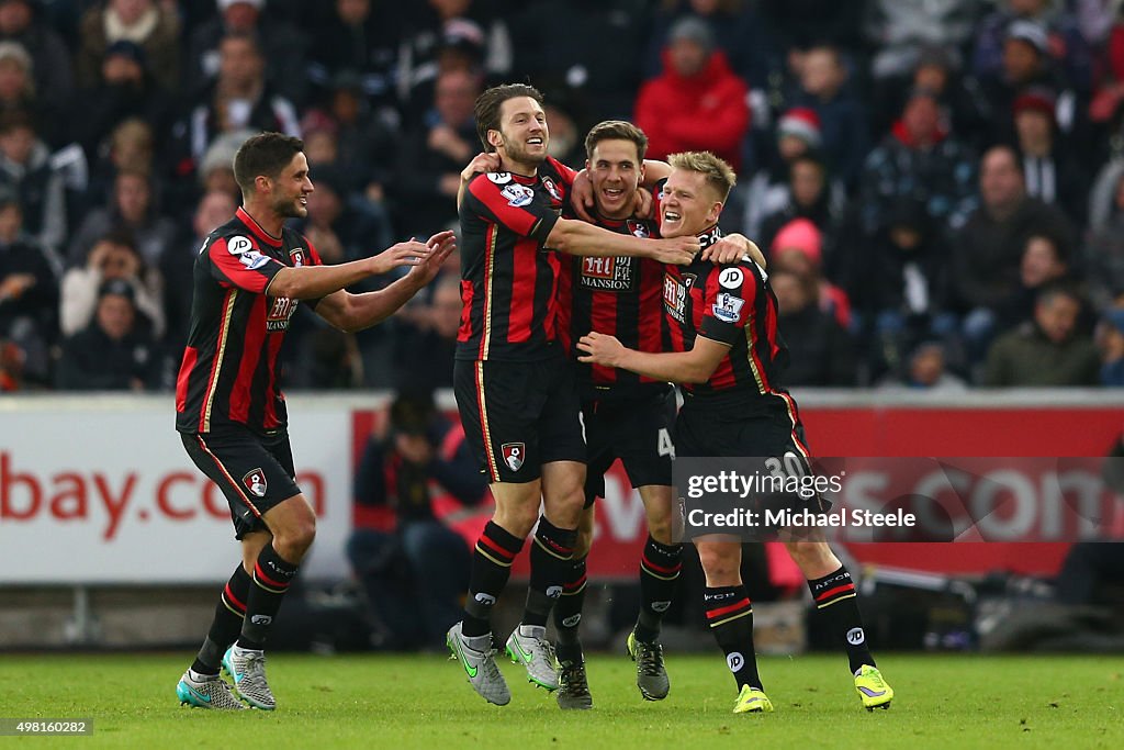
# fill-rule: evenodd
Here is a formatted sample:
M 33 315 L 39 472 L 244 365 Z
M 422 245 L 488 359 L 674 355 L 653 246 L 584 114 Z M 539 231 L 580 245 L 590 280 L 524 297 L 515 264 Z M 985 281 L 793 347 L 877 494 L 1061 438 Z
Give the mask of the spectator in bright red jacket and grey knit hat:
M 651 159 L 681 151 L 710 151 L 737 170 L 750 127 L 745 81 L 715 48 L 710 27 L 683 18 L 671 27 L 663 74 L 645 83 L 636 99 L 636 126 L 647 134 Z

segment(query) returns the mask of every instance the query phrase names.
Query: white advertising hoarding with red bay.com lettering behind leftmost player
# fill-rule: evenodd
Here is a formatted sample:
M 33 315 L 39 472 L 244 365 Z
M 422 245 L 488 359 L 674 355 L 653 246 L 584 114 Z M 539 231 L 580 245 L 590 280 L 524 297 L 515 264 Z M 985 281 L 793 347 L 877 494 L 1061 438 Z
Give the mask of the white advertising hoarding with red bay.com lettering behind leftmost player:
M 290 399 L 317 510 L 308 578 L 346 575 L 352 407 Z M 0 400 L 0 584 L 211 582 L 239 559 L 226 498 L 188 458 L 172 397 Z

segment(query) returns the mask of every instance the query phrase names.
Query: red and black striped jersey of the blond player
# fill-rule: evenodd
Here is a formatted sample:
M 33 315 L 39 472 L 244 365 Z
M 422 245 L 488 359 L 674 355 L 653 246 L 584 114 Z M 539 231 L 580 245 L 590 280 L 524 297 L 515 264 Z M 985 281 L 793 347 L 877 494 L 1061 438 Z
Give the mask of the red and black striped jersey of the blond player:
M 699 242 L 707 247 L 720 237 L 714 227 Z M 756 263 L 715 265 L 696 257 L 690 265 L 668 265 L 663 309 L 669 351 L 690 351 L 696 336 L 729 344 L 709 380 L 681 386 L 688 401 L 770 408 L 762 397 L 785 392 L 777 378 L 788 363 L 788 349 L 777 332 L 777 297 Z

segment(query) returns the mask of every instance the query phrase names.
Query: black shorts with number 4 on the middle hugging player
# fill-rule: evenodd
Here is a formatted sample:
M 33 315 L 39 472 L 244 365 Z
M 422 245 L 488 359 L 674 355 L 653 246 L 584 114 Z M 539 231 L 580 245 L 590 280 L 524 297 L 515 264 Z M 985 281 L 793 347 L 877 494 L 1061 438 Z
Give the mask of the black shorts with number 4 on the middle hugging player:
M 605 472 L 617 459 L 633 487 L 671 485 L 676 396 L 670 388 L 643 398 L 582 401 L 581 415 L 589 444 L 587 508 L 605 497 Z

